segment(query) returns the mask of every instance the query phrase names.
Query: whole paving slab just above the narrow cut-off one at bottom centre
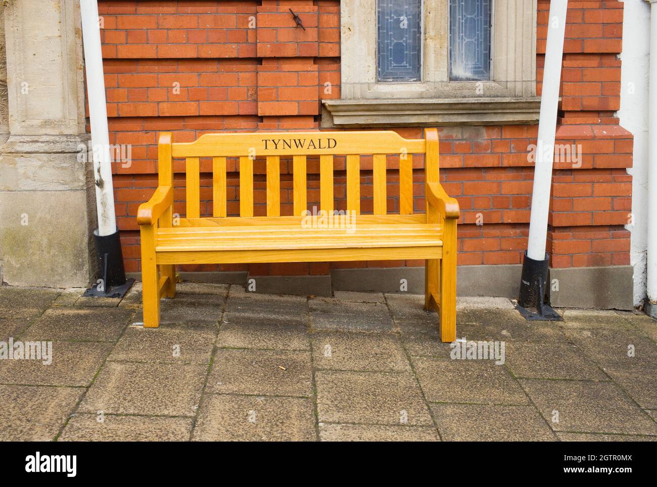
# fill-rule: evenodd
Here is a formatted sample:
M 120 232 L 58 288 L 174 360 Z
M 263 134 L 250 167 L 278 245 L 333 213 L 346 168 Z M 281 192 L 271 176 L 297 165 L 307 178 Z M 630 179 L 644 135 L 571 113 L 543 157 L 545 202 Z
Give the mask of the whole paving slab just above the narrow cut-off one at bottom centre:
M 320 422 L 432 426 L 411 373 L 317 371 Z

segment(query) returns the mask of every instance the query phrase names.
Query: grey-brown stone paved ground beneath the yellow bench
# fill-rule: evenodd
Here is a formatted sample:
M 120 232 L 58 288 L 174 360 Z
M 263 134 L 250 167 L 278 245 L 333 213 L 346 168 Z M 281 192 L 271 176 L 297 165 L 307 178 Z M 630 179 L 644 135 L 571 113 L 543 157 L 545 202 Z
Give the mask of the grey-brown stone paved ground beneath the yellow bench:
M 461 300 L 458 336 L 503 341 L 496 365 L 451 360 L 417 295 L 185 283 L 159 329 L 140 326 L 138 287 L 80 295 L 0 288 L 0 341 L 53 342 L 49 365 L 0 360 L 3 439 L 657 440 L 645 315 L 528 323 L 505 299 Z

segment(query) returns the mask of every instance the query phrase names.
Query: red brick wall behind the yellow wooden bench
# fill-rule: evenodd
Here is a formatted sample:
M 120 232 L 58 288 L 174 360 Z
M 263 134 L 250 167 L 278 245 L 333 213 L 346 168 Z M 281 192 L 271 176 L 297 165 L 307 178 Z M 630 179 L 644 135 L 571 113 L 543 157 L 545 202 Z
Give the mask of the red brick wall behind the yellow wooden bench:
M 288 8 L 306 30 L 294 26 Z M 564 43 L 557 142 L 581 144 L 580 167 L 556 162 L 548 233 L 555 267 L 629 264 L 632 136 L 618 126 L 623 4 L 570 1 Z M 158 131 L 190 141 L 212 131 L 319 129 L 321 100 L 340 98 L 340 2 L 99 1 L 105 79 L 114 144 L 131 144 L 132 164 L 115 164 L 116 213 L 126 268 L 139 270 L 135 214 L 156 186 Z M 539 0 L 537 85 L 540 93 L 549 1 Z M 176 84 L 178 83 L 178 84 Z M 327 84 L 330 83 L 330 89 Z M 396 127 L 391 127 L 396 129 Z M 421 127 L 396 129 L 422 137 Z M 518 264 L 526 247 L 537 125 L 442 127 L 441 178 L 463 209 L 459 264 Z M 367 169 L 369 161 L 363 161 Z M 415 209 L 424 210 L 422 161 L 415 161 Z M 369 166 L 371 167 L 371 165 Z M 202 166 L 201 211 L 212 207 L 209 162 Z M 336 169 L 344 167 L 336 166 Z M 231 167 L 229 166 L 229 170 Z M 175 211 L 185 213 L 185 177 L 177 165 Z M 228 211 L 238 214 L 238 175 L 229 174 Z M 317 163 L 309 163 L 309 205 L 319 203 Z M 371 184 L 371 173 L 363 171 Z M 282 214 L 292 211 L 291 174 Z M 398 211 L 390 180 L 389 211 Z M 256 161 L 256 215 L 265 212 L 264 165 Z M 344 173 L 336 173 L 344 205 Z M 361 191 L 371 211 L 371 186 Z M 483 224 L 477 224 L 483 222 Z M 421 262 L 221 266 L 252 274 L 325 274 L 330 268 L 422 265 Z M 188 266 L 216 270 L 219 266 Z

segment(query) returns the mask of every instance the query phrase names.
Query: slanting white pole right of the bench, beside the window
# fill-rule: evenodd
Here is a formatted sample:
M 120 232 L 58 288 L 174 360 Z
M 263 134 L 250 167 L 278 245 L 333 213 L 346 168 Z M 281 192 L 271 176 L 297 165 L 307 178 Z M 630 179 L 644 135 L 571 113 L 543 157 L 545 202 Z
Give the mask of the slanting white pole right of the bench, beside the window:
M 535 151 L 530 236 L 527 247 L 528 257 L 535 261 L 545 259 L 547 216 L 550 207 L 552 165 L 555 154 L 556 110 L 559 101 L 567 9 L 568 0 L 552 0 L 550 2 L 538 142 Z

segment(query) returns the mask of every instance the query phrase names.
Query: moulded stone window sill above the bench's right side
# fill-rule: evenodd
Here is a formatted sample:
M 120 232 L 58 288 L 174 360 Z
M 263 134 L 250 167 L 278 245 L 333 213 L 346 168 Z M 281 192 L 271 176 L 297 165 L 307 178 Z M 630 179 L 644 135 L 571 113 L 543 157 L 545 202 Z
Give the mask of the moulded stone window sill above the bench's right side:
M 321 127 L 538 123 L 541 98 L 324 100 Z

